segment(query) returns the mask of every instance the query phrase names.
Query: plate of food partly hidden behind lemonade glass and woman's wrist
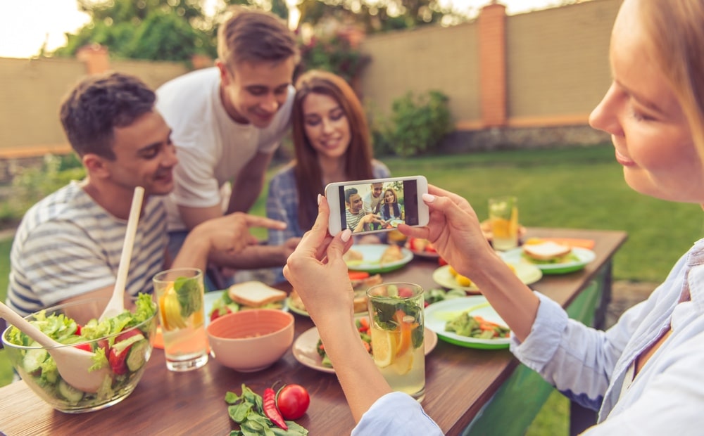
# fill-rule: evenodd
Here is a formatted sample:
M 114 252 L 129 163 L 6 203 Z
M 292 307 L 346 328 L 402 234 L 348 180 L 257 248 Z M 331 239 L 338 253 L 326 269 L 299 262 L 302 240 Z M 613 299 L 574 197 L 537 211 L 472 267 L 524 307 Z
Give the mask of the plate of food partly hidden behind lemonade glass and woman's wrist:
M 369 319 L 367 316 L 358 316 L 355 319 L 355 323 L 358 331 L 360 331 L 360 337 L 363 342 L 369 344 Z M 423 331 L 423 347 L 425 347 L 424 351 L 426 356 L 429 352 L 432 352 L 437 343 L 438 337 L 435 332 L 429 328 L 425 328 L 425 331 Z M 324 373 L 334 374 L 335 370 L 332 368 L 332 363 L 330 363 L 329 359 L 327 359 L 325 347 L 321 348 L 321 344 L 322 341 L 320 341 L 318 328 L 309 328 L 307 331 L 301 333 L 298 338 L 296 338 L 294 345 L 291 346 L 291 352 L 294 353 L 294 357 L 298 362 L 308 366 L 308 368 L 313 368 Z M 373 353 L 373 346 L 369 345 L 367 350 L 370 350 L 370 353 Z

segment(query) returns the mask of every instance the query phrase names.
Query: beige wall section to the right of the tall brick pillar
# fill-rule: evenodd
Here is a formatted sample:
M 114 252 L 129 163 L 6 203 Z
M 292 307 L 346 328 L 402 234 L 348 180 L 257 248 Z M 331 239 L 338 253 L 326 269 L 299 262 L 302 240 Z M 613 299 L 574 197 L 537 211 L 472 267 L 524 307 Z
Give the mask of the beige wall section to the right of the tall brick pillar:
M 608 46 L 620 1 L 595 0 L 508 17 L 512 124 L 586 115 L 610 84 Z

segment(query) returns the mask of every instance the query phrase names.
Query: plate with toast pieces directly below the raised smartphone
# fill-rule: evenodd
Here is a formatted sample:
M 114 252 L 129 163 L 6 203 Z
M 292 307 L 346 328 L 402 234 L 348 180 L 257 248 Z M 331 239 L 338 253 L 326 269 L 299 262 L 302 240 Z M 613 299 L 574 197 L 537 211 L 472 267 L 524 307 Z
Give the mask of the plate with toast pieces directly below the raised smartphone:
M 403 267 L 413 259 L 413 253 L 395 244 L 359 244 L 352 245 L 344 259 L 352 271 L 379 274 Z

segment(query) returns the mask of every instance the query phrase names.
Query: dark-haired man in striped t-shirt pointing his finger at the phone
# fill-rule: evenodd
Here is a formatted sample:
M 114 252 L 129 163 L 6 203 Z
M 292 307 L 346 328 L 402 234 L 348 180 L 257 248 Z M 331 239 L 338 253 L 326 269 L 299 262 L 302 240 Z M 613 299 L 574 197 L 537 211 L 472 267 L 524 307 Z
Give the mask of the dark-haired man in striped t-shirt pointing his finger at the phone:
M 25 214 L 10 255 L 7 303 L 15 311 L 29 314 L 111 295 L 137 186 L 144 188 L 144 203 L 125 300 L 151 293 L 151 278 L 168 264 L 161 196 L 172 191 L 178 162 L 154 100 L 141 80 L 119 73 L 87 77 L 65 97 L 61 123 L 87 174 Z M 249 226 L 281 224 L 241 213 L 205 222 L 191 232 L 172 266 L 204 269 L 209 252 L 232 252 L 250 243 Z

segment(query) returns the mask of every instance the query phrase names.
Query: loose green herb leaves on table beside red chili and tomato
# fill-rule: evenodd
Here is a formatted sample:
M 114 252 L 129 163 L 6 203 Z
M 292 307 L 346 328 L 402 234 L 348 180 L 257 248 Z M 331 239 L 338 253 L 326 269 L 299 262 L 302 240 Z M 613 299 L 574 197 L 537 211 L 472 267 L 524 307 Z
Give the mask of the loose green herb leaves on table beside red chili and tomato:
M 288 430 L 277 427 L 264 413 L 264 400 L 242 385 L 242 395 L 227 392 L 225 402 L 230 404 L 227 413 L 232 421 L 239 424 L 239 430 L 232 430 L 230 436 L 296 436 L 308 435 L 308 430 L 295 421 L 285 421 Z

